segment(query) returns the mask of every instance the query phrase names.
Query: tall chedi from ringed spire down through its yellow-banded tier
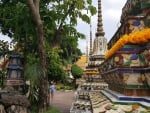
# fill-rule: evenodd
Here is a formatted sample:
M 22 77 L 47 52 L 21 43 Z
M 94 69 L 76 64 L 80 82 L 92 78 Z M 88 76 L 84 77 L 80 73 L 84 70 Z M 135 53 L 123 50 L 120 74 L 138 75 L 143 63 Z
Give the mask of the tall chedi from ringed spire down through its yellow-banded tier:
M 92 25 L 90 24 L 90 51 L 89 60 L 86 67 L 86 77 L 90 82 L 103 82 L 98 67 L 104 62 L 104 55 L 107 51 L 107 39 L 104 37 L 102 24 L 101 0 L 98 0 L 97 32 L 92 44 Z M 93 46 L 93 47 L 92 47 Z

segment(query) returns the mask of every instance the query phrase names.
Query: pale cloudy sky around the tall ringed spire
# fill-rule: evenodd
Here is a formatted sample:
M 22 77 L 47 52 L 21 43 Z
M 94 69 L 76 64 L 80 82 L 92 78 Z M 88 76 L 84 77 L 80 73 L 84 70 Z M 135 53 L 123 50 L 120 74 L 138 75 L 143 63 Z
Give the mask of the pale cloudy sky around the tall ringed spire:
M 116 30 L 120 25 L 120 16 L 122 13 L 122 8 L 125 5 L 127 0 L 101 0 L 102 7 L 102 23 L 103 30 L 105 32 L 105 38 L 107 38 L 107 42 L 111 39 L 111 37 L 115 34 Z M 98 7 L 98 0 L 93 0 L 92 3 L 95 7 Z M 97 30 L 97 14 L 92 16 L 92 39 L 95 38 L 95 33 Z M 85 34 L 85 40 L 79 40 L 78 48 L 81 49 L 83 53 L 86 53 L 87 44 L 89 46 L 89 38 L 90 38 L 90 25 L 78 21 L 77 29 L 79 32 Z

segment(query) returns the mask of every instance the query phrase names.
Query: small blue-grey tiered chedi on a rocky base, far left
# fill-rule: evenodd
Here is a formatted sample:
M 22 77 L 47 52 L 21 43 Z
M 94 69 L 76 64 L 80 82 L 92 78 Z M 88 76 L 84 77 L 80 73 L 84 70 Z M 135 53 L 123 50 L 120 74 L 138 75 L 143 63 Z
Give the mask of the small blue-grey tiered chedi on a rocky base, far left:
M 10 55 L 4 88 L 0 90 L 1 113 L 28 113 L 30 105 L 23 92 L 22 63 L 19 54 Z

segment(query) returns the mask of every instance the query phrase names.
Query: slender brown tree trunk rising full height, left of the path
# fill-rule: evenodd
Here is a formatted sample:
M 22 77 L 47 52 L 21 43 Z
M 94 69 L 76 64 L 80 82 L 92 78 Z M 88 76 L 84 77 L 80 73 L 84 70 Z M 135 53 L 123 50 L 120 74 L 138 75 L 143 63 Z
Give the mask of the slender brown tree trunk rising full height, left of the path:
M 49 107 L 49 83 L 46 68 L 46 52 L 44 47 L 44 29 L 43 22 L 39 13 L 40 0 L 28 0 L 28 5 L 36 24 L 36 31 L 38 37 L 38 55 L 42 68 L 40 87 L 39 87 L 39 113 L 45 112 Z

